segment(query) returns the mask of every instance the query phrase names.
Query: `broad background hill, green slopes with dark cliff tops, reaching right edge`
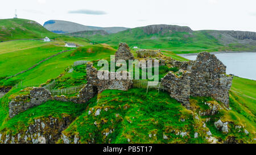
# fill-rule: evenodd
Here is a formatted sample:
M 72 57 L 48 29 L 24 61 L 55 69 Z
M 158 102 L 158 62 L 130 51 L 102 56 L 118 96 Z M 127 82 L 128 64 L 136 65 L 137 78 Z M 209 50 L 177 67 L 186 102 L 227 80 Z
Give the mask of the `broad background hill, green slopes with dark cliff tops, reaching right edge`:
M 152 25 L 131 28 L 107 36 L 88 36 L 95 43 L 117 45 L 125 42 L 132 47 L 168 49 L 180 52 L 201 51 L 253 51 L 256 32 L 243 31 L 193 31 L 189 27 Z

